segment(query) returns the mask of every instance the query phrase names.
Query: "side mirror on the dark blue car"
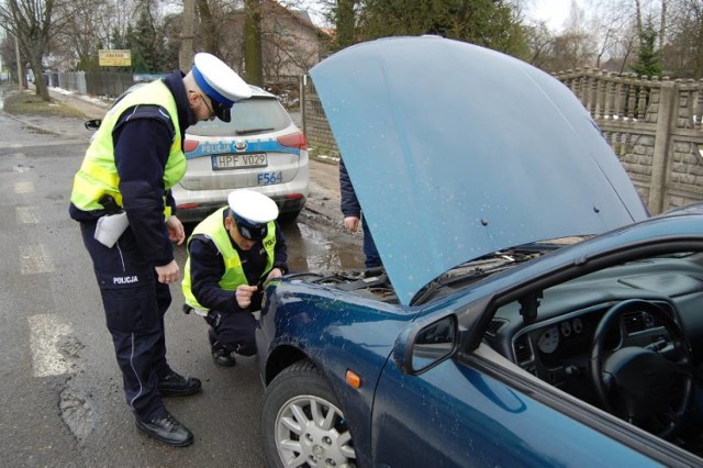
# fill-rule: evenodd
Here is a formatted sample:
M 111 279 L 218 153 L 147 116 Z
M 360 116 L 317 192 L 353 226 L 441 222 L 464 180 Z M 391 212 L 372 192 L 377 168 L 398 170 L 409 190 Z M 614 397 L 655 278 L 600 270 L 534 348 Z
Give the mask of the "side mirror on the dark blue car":
M 397 346 L 399 367 L 409 374 L 422 372 L 454 354 L 458 338 L 457 317 L 442 317 L 405 337 L 404 346 Z

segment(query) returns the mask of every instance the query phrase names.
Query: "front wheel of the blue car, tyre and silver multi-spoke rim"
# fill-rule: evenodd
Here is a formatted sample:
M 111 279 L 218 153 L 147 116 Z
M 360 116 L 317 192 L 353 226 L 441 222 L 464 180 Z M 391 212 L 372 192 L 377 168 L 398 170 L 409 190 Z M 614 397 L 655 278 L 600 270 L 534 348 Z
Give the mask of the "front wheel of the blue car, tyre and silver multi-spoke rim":
M 266 389 L 261 439 L 269 467 L 356 466 L 344 413 L 310 360 L 288 367 Z

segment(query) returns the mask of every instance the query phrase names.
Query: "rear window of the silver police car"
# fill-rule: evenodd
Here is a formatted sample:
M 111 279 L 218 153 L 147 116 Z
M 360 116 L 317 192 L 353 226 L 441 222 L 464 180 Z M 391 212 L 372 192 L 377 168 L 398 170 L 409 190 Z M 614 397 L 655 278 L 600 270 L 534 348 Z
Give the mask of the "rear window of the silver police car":
M 232 107 L 231 122 L 220 119 L 198 122 L 188 129 L 188 133 L 198 136 L 241 136 L 276 132 L 290 124 L 290 115 L 276 99 L 253 98 Z

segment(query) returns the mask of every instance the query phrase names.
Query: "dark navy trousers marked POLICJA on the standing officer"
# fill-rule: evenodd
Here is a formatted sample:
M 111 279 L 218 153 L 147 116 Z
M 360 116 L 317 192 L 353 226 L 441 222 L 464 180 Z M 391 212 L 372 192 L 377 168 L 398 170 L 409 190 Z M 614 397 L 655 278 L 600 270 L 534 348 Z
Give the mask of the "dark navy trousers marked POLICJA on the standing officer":
M 94 230 L 94 222 L 80 223 L 122 370 L 126 402 L 138 419 L 149 421 L 166 414 L 158 382 L 170 371 L 164 334 L 170 290 L 158 282 L 154 266 L 144 259 L 130 227 L 112 248 L 93 238 Z

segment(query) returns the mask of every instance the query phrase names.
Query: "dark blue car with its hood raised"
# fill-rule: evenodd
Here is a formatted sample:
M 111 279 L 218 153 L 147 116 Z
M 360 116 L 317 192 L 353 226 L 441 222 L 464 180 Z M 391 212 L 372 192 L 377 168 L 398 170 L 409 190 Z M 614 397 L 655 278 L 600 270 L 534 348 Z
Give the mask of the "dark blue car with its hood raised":
M 493 51 L 311 76 L 383 267 L 267 289 L 270 466 L 703 465 L 701 205 L 651 218 L 577 98 Z

